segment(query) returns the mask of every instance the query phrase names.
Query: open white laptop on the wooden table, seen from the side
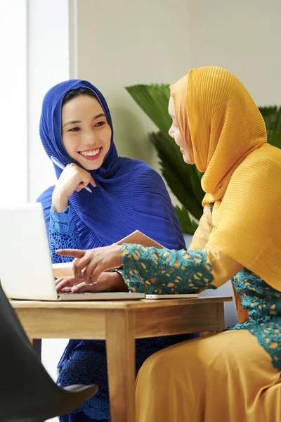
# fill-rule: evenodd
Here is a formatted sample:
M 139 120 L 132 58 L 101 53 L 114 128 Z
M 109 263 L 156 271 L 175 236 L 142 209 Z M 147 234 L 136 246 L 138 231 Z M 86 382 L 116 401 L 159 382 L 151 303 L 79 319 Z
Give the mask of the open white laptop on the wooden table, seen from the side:
M 0 208 L 0 279 L 8 298 L 139 300 L 144 293 L 57 293 L 40 203 Z

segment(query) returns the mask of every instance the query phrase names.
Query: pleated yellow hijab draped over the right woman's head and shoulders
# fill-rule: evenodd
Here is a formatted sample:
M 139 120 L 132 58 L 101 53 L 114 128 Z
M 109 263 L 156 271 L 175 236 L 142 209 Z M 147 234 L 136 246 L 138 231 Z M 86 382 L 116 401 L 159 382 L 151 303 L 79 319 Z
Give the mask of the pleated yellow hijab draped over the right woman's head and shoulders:
M 242 83 L 227 70 L 190 70 L 171 87 L 176 122 L 214 203 L 209 243 L 281 290 L 281 151 Z M 190 135 L 189 135 L 190 133 Z

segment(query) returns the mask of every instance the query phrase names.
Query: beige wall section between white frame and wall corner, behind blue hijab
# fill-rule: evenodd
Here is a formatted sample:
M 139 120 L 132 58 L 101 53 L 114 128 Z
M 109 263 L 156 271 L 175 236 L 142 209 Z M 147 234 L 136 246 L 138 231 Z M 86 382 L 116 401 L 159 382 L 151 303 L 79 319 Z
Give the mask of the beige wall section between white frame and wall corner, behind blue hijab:
M 152 122 L 125 86 L 172 83 L 188 71 L 186 0 L 77 1 L 78 77 L 103 92 L 120 155 L 155 165 Z

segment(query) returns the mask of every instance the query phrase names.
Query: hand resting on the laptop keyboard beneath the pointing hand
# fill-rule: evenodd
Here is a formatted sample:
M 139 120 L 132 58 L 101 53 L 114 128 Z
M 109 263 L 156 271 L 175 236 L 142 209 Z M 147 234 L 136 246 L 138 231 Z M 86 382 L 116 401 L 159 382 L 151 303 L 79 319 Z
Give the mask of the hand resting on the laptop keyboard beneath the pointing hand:
M 55 281 L 56 289 L 61 293 L 84 293 L 84 292 L 127 292 L 128 288 L 123 277 L 117 272 L 104 272 L 98 277 L 95 284 L 84 283 L 83 279 L 75 279 L 74 276 L 60 277 Z

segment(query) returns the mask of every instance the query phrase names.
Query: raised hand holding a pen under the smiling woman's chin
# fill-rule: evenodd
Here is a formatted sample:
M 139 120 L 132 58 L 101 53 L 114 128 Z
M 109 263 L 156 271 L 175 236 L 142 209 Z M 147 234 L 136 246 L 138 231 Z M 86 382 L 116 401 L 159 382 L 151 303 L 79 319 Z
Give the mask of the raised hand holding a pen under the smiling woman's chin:
M 68 207 L 68 198 L 74 191 L 81 191 L 85 186 L 91 184 L 96 187 L 96 181 L 91 174 L 79 167 L 79 165 L 68 164 L 60 174 L 60 178 L 53 190 L 53 207 L 56 212 L 63 212 Z

